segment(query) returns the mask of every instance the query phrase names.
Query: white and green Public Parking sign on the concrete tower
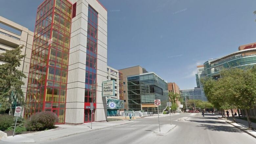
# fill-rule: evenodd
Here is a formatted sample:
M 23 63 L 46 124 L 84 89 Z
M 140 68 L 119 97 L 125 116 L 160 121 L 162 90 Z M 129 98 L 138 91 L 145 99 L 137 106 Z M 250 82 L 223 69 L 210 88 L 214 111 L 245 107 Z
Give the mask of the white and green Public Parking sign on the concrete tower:
M 115 80 L 102 82 L 102 96 L 115 96 Z

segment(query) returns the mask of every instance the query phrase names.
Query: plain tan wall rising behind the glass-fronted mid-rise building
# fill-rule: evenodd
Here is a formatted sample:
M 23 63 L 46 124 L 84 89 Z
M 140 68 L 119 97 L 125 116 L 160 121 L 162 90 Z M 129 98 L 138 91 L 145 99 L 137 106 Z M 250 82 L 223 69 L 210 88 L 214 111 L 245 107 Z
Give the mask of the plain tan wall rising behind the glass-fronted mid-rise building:
M 134 66 L 130 68 L 125 68 L 118 70 L 123 74 L 123 100 L 124 100 L 124 109 L 128 111 L 128 93 L 127 93 L 127 76 L 138 75 L 146 73 L 147 71 L 141 66 Z

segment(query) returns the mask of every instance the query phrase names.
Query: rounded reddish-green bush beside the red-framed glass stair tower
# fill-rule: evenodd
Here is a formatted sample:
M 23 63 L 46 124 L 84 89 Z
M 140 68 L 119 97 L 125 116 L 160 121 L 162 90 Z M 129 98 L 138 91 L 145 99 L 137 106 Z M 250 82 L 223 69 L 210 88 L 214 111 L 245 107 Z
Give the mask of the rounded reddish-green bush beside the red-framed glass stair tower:
M 55 122 L 58 121 L 58 116 L 50 111 L 33 114 L 26 123 L 26 128 L 29 131 L 43 131 L 45 129 L 54 128 Z

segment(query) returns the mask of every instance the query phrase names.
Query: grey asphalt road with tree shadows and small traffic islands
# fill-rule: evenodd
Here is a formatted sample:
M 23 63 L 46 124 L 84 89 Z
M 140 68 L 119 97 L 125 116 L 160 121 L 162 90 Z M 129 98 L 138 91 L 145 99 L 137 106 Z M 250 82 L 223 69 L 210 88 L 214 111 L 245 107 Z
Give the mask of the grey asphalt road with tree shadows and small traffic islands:
M 158 117 L 146 117 L 130 124 L 36 144 L 256 144 L 256 138 L 211 114 L 202 117 L 201 114 L 182 113 L 181 117 L 189 118 L 178 121 L 180 115 L 171 116 L 172 124 L 177 126 L 168 134 L 153 133 L 159 128 Z M 160 117 L 160 124 L 170 124 L 169 115 Z

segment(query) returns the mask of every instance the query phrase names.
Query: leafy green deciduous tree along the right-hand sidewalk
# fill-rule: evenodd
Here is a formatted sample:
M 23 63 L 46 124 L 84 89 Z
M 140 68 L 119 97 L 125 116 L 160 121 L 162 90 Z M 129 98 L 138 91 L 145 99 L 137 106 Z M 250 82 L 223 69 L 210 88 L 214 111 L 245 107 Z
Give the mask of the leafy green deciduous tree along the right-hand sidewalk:
M 256 68 L 232 68 L 221 72 L 221 76 L 219 80 L 202 80 L 208 100 L 221 110 L 244 109 L 251 129 L 248 109 L 256 105 Z

